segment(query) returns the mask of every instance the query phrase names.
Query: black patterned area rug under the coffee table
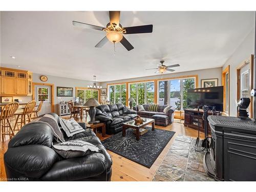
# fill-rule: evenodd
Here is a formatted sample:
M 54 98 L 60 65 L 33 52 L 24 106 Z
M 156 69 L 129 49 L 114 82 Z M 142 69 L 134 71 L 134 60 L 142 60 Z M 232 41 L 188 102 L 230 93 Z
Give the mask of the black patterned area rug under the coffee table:
M 102 141 L 106 149 L 150 168 L 166 144 L 174 136 L 175 132 L 160 129 L 151 130 L 145 127 L 148 132 L 140 136 L 137 141 L 134 129 L 127 129 L 126 136 L 122 137 L 122 132 Z

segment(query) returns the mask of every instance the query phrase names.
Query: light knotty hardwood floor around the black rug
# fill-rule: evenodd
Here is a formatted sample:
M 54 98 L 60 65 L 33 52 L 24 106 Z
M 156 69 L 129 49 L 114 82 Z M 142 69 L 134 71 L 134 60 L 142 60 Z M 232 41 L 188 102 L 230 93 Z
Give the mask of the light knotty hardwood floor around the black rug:
M 66 117 L 69 118 L 69 117 Z M 78 122 L 81 122 L 79 119 Z M 173 141 L 175 140 L 175 137 L 179 134 L 186 135 L 190 137 L 197 137 L 197 130 L 191 129 L 189 127 L 184 127 L 182 123 L 178 123 L 175 120 L 171 125 L 168 125 L 166 127 L 163 126 L 155 126 L 158 129 L 167 130 L 167 131 L 174 131 L 176 132 L 174 137 L 168 142 L 168 144 L 165 146 L 162 153 L 158 156 L 157 160 L 154 162 L 154 164 L 151 166 L 151 168 L 144 167 L 138 163 L 135 163 L 129 159 L 126 159 L 120 155 L 117 155 L 113 152 L 109 152 L 109 154 L 112 157 L 113 165 L 112 165 L 112 181 L 151 181 L 153 176 L 156 173 L 156 170 L 160 166 L 161 162 L 163 161 L 163 158 L 165 157 L 166 153 L 168 152 L 170 146 L 172 145 Z M 84 122 L 84 120 L 83 120 Z M 100 138 L 100 140 L 106 139 L 108 137 L 111 137 L 111 135 L 106 135 L 106 137 L 102 138 L 100 133 L 97 133 L 97 136 Z M 204 134 L 200 132 L 200 138 L 203 138 Z M 5 141 L 2 144 L 1 151 L 0 151 L 0 181 L 5 180 L 6 174 L 5 174 L 5 166 L 4 166 L 4 153 L 7 151 L 8 147 L 8 140 Z

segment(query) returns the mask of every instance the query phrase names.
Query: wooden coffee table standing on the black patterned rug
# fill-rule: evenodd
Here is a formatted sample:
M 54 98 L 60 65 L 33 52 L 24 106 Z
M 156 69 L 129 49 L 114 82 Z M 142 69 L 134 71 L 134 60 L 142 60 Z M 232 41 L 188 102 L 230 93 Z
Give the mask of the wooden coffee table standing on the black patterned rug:
M 136 139 L 140 139 L 140 129 L 148 124 L 152 124 L 152 131 L 155 130 L 155 119 L 149 119 L 149 118 L 142 118 L 145 120 L 142 124 L 136 125 L 135 120 L 131 120 L 128 122 L 123 123 L 123 137 L 126 135 L 126 129 L 127 128 L 133 128 L 136 130 Z

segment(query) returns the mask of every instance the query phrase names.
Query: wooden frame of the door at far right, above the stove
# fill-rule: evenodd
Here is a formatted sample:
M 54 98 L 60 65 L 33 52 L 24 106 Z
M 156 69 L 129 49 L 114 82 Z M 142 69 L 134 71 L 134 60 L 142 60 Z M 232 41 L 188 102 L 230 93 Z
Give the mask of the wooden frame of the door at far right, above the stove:
M 244 60 L 242 63 L 240 63 L 237 67 L 237 102 L 239 102 L 240 100 L 240 70 L 248 63 L 249 64 L 249 74 L 250 74 L 250 85 L 249 85 L 249 89 L 252 90 L 253 88 L 253 58 L 254 58 L 254 55 L 251 55 L 250 58 Z M 249 90 L 249 91 L 250 91 Z M 252 106 L 253 106 L 253 102 L 252 102 L 252 97 L 250 96 L 250 118 L 253 117 L 253 109 L 252 109 Z

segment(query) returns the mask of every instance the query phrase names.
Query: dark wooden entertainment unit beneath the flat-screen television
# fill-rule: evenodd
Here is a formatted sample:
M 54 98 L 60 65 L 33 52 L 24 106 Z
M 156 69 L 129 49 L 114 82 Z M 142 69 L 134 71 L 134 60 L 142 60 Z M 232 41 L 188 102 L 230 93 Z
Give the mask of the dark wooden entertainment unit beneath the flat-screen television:
M 208 115 L 212 115 L 211 111 L 208 112 Z M 221 112 L 217 112 L 215 115 L 222 115 Z M 204 132 L 204 120 L 202 119 L 203 110 L 199 110 L 199 129 Z M 193 129 L 198 129 L 198 110 L 197 109 L 184 109 L 184 126 L 191 127 Z M 209 129 L 210 131 L 210 129 Z

